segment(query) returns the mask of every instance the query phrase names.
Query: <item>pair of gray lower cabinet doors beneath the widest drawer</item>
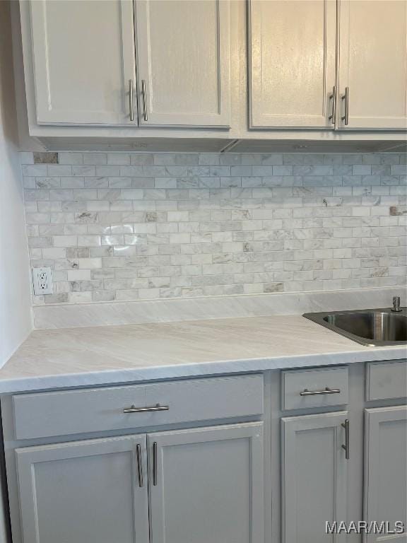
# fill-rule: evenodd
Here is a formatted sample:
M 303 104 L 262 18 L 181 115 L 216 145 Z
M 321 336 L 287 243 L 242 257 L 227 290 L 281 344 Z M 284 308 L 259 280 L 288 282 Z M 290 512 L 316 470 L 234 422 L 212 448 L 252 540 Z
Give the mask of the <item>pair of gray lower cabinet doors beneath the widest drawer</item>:
M 23 543 L 264 543 L 263 451 L 262 422 L 19 448 Z

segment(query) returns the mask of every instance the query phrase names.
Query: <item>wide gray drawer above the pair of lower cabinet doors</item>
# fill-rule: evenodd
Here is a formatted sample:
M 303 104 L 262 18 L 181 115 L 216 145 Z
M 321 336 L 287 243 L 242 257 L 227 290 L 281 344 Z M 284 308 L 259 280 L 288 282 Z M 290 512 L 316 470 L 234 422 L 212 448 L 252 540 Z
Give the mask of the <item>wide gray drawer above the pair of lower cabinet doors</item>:
M 156 406 L 161 409 L 136 410 Z M 17 439 L 227 419 L 263 411 L 263 375 L 13 396 Z

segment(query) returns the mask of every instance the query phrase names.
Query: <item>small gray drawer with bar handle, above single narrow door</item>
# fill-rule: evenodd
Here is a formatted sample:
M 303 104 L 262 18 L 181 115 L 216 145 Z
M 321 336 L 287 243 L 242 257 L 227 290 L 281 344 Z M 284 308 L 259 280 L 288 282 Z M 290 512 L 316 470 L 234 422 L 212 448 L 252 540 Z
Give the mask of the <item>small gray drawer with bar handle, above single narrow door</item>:
M 282 409 L 329 407 L 348 403 L 348 367 L 282 372 Z

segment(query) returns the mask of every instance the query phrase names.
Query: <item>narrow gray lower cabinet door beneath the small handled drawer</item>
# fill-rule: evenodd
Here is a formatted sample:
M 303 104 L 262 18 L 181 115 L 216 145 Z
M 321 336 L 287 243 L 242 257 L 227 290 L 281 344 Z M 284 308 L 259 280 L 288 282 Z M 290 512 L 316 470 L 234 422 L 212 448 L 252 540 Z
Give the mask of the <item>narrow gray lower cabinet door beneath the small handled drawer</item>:
M 340 411 L 282 419 L 283 543 L 343 540 L 326 534 L 326 522 L 346 521 L 346 417 Z

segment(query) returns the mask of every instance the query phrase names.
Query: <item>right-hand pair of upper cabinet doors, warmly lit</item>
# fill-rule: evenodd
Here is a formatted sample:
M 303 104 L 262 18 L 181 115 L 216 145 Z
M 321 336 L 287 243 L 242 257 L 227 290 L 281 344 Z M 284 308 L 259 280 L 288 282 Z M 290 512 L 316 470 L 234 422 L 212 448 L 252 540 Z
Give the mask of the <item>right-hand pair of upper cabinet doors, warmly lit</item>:
M 407 128 L 405 0 L 249 0 L 248 13 L 249 128 Z

